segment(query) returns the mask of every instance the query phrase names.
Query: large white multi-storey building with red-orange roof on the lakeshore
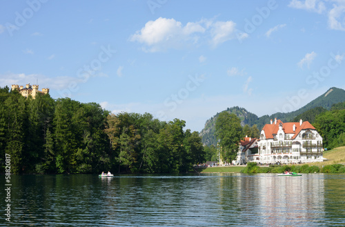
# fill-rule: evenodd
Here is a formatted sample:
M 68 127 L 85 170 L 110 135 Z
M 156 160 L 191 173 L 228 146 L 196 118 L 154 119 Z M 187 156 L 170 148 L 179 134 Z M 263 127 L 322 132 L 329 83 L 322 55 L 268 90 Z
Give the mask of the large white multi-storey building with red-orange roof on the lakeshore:
M 297 164 L 323 161 L 322 137 L 308 121 L 287 122 L 275 119 L 262 128 L 258 143 L 262 164 Z

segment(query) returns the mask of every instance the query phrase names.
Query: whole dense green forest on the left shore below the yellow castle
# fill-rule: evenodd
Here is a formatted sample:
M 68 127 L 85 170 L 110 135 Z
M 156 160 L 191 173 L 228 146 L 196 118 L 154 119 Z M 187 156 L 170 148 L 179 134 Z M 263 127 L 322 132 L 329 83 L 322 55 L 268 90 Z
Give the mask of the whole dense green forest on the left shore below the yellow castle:
M 197 132 L 185 121 L 112 115 L 98 103 L 50 95 L 23 97 L 0 88 L 0 166 L 11 172 L 186 172 L 205 161 Z

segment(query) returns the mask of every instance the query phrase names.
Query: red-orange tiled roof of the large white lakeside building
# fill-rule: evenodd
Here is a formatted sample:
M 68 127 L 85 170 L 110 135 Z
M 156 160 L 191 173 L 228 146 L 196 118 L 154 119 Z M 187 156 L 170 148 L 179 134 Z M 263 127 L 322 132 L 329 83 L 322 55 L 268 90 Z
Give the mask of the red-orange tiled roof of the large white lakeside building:
M 299 122 L 286 122 L 283 123 L 281 120 L 277 120 L 276 124 L 266 124 L 262 130 L 264 130 L 266 139 L 273 139 L 274 135 L 277 135 L 277 132 L 279 130 L 279 124 L 282 123 L 283 131 L 285 134 L 293 134 L 292 139 L 295 139 L 299 132 L 301 132 L 302 129 L 312 129 L 315 130 L 315 128 L 309 123 L 309 121 L 304 121 L 302 125 L 299 125 Z M 293 126 L 295 125 L 295 131 L 293 130 Z

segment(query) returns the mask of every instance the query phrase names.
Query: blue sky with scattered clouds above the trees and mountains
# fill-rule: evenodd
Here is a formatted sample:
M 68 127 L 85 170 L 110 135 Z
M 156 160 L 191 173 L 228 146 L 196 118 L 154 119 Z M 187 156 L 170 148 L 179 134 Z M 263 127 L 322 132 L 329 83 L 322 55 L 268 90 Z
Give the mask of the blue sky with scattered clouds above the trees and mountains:
M 345 89 L 345 1 L 1 1 L 0 86 L 150 112 L 200 131 Z

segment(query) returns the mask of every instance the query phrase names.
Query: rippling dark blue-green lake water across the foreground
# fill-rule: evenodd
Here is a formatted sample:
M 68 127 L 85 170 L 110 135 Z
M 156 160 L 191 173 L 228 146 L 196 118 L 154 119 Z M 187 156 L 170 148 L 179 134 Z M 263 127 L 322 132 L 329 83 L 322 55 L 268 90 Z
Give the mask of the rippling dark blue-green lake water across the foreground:
M 345 226 L 345 175 L 24 175 L 10 183 L 10 222 L 3 212 L 0 226 Z

